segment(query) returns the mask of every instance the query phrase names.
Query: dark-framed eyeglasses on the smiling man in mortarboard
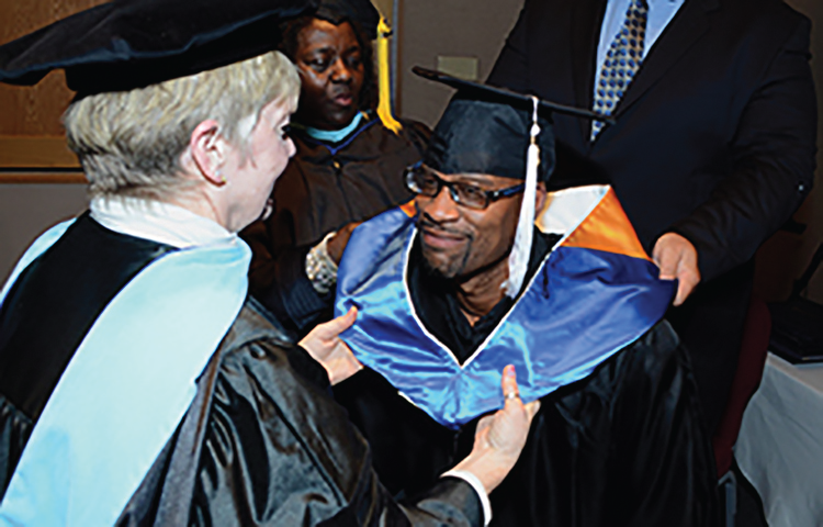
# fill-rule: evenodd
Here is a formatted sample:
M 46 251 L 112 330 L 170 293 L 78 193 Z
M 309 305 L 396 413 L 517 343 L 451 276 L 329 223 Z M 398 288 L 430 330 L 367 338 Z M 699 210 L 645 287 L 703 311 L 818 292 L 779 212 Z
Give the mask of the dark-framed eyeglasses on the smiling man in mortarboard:
M 499 190 L 485 190 L 476 184 L 463 181 L 449 182 L 440 179 L 431 169 L 425 167 L 421 162 L 412 165 L 406 169 L 404 175 L 406 188 L 416 194 L 422 194 L 429 198 L 436 198 L 440 190 L 446 187 L 454 203 L 467 206 L 469 209 L 483 210 L 492 202 L 501 198 L 508 198 L 522 192 L 526 184 L 520 183 L 514 187 L 507 187 Z

